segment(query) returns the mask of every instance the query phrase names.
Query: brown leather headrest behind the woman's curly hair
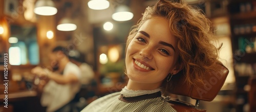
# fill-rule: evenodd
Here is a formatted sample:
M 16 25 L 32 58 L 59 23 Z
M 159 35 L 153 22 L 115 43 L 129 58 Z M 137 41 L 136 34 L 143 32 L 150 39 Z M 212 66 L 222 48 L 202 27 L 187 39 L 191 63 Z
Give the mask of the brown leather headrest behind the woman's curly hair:
M 170 80 L 172 87 L 169 92 L 176 95 L 187 96 L 196 100 L 212 101 L 219 93 L 223 86 L 227 75 L 228 69 L 220 63 L 221 69 L 217 72 L 206 73 L 204 75 L 205 84 L 196 82 L 196 86 L 190 87 L 184 82 L 183 74 L 176 74 Z

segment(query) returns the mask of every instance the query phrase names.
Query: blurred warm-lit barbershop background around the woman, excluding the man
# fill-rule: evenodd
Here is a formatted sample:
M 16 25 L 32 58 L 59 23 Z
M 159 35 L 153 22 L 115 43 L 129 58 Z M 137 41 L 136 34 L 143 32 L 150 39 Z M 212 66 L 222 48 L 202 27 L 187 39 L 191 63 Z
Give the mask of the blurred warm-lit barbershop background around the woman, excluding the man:
M 123 73 L 126 37 L 144 9 L 156 2 L 0 1 L 1 102 L 5 102 L 4 68 L 8 68 L 8 110 L 1 103 L 0 111 L 44 111 L 31 69 L 37 65 L 50 68 L 49 53 L 55 46 L 84 54 L 83 60 L 94 70 L 94 80 L 79 92 L 80 102 L 88 104 L 120 91 L 127 83 Z M 219 95 L 212 102 L 202 101 L 200 107 L 207 111 L 256 111 L 252 108 L 256 104 L 256 1 L 186 2 L 201 9 L 214 24 L 216 38 L 223 43 L 220 60 L 229 69 Z M 41 6 L 51 10 L 40 11 Z M 9 54 L 8 66 L 4 64 L 6 53 Z M 185 100 L 193 103 L 191 99 Z

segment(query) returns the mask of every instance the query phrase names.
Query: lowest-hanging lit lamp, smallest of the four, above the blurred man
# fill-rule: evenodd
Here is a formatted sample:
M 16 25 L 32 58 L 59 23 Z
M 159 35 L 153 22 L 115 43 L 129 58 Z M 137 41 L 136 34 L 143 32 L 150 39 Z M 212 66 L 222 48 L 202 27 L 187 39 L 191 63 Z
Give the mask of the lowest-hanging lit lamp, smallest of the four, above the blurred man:
M 57 30 L 59 31 L 73 31 L 76 30 L 76 25 L 72 23 L 70 18 L 64 17 L 60 20 Z

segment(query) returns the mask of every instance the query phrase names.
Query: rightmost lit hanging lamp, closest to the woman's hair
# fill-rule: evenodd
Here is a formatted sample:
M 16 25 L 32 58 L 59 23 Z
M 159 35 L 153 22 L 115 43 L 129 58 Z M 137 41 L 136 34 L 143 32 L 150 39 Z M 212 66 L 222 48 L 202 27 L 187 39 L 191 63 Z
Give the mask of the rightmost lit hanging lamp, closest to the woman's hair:
M 133 13 L 130 11 L 130 8 L 125 5 L 120 5 L 116 8 L 115 13 L 112 15 L 112 18 L 116 21 L 126 21 L 133 18 Z

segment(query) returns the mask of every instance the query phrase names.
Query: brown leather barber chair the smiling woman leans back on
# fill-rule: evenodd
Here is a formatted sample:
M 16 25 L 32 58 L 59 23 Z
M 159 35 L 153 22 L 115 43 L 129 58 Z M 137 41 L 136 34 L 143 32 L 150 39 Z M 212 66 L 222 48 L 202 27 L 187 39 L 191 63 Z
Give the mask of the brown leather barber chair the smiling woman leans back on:
M 184 75 L 177 74 L 172 77 L 172 88 L 168 91 L 171 94 L 187 96 L 196 100 L 196 104 L 186 103 L 180 101 L 179 99 L 172 99 L 166 97 L 166 101 L 178 112 L 197 112 L 197 111 L 206 111 L 205 109 L 199 108 L 200 100 L 203 101 L 212 101 L 219 93 L 221 87 L 223 86 L 226 77 L 228 75 L 228 69 L 223 64 L 218 64 L 222 68 L 218 72 L 207 73 L 204 77 L 205 84 L 196 82 L 196 86 L 188 86 L 184 82 Z

